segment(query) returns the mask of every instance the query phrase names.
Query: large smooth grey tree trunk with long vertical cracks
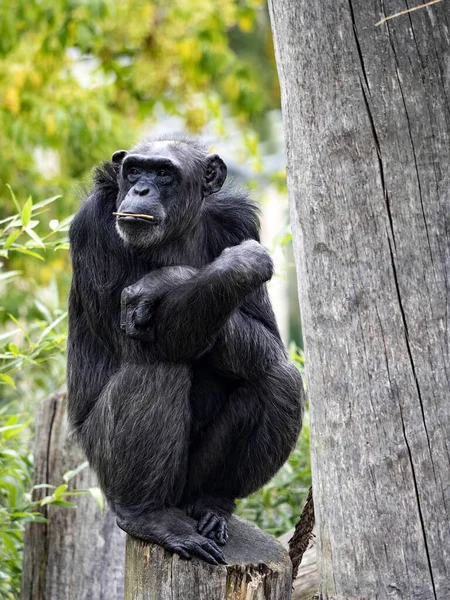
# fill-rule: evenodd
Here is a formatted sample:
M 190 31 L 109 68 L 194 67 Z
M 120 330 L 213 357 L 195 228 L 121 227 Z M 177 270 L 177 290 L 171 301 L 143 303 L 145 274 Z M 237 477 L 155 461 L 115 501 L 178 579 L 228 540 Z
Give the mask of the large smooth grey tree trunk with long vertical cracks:
M 271 2 L 321 598 L 450 598 L 450 5 L 405 8 Z

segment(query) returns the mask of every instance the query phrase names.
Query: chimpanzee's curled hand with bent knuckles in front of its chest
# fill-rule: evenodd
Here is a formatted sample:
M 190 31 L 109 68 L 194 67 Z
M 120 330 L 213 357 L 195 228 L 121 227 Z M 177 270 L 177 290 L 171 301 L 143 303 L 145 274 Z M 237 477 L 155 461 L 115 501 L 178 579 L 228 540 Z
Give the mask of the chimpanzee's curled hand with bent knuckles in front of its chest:
M 174 287 L 196 273 L 192 267 L 163 267 L 144 275 L 126 287 L 121 296 L 120 328 L 136 340 L 153 342 L 155 323 L 152 321 L 160 300 Z

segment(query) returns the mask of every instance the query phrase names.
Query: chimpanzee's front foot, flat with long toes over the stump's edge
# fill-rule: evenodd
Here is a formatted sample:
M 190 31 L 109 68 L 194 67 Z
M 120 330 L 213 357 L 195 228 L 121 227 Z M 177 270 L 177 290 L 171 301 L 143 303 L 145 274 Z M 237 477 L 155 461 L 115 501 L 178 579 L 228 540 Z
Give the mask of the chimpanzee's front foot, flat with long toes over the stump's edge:
M 211 565 L 227 564 L 215 541 L 199 535 L 192 521 L 180 510 L 166 509 L 138 517 L 121 515 L 117 517 L 117 525 L 126 533 L 159 544 L 185 560 L 195 556 Z

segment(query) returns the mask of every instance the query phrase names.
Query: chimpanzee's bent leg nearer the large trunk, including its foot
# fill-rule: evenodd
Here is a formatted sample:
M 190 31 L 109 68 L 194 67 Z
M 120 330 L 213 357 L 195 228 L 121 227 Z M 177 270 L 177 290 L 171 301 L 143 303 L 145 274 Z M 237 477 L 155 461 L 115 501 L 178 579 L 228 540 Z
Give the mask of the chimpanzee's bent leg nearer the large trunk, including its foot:
M 293 450 L 300 431 L 303 391 L 287 360 L 245 381 L 194 440 L 183 504 L 202 535 L 224 544 L 234 499 L 265 484 Z

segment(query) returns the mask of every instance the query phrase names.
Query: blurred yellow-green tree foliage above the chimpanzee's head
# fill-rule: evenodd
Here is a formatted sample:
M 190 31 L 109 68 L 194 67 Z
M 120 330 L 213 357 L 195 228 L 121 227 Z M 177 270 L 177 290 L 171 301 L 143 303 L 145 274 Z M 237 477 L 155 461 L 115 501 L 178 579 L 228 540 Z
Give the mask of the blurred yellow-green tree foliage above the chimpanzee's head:
M 224 107 L 244 125 L 278 104 L 262 0 L 0 3 L 0 90 L 0 182 L 34 197 L 65 192 L 161 111 L 195 132 Z

